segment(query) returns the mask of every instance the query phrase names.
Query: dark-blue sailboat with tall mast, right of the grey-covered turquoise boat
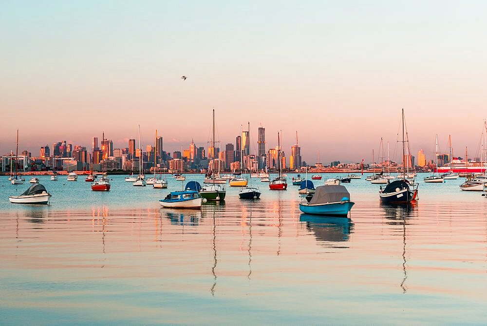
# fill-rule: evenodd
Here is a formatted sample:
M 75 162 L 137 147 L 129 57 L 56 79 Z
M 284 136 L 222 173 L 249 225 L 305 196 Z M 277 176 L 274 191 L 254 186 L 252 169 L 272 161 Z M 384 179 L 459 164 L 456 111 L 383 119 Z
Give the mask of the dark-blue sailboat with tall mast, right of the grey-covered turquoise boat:
M 405 143 L 407 140 L 404 139 L 404 109 L 402 109 L 402 169 L 403 174 L 405 171 Z M 394 204 L 408 204 L 415 200 L 418 196 L 417 185 L 410 184 L 408 180 L 403 178 L 402 180 L 396 180 L 388 184 L 384 189 L 382 186 L 379 190 L 379 197 L 383 203 L 394 203 Z

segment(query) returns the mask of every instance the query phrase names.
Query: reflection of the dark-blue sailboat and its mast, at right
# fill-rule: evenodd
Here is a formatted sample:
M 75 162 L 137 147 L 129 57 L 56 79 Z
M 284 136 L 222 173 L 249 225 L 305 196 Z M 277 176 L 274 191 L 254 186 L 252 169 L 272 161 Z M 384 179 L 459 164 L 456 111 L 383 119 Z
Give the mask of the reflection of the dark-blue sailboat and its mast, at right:
M 408 279 L 407 260 L 406 260 L 406 244 L 407 234 L 406 225 L 408 225 L 408 219 L 417 213 L 417 202 L 411 202 L 410 204 L 385 204 L 381 203 L 381 207 L 385 212 L 385 216 L 389 221 L 387 224 L 400 226 L 402 236 L 402 272 L 403 278 L 399 287 L 402 293 L 406 293 L 408 288 L 406 286 L 406 280 Z

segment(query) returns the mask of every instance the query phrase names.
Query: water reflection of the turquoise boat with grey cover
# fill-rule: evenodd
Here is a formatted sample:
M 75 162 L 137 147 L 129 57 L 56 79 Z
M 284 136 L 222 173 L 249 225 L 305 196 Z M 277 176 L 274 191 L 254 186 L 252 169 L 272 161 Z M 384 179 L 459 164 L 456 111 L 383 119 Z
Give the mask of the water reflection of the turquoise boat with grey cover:
M 300 222 L 306 222 L 306 228 L 314 232 L 318 242 L 348 241 L 354 228 L 351 220 L 343 216 L 300 214 Z

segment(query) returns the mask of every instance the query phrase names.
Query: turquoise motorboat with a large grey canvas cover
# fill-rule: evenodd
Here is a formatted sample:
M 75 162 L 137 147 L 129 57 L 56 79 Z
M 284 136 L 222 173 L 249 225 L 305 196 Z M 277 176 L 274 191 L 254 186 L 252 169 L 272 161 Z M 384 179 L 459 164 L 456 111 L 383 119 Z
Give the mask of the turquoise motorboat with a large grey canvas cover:
M 341 185 L 319 186 L 315 194 L 306 196 L 300 211 L 314 215 L 348 215 L 355 205 L 347 188 Z

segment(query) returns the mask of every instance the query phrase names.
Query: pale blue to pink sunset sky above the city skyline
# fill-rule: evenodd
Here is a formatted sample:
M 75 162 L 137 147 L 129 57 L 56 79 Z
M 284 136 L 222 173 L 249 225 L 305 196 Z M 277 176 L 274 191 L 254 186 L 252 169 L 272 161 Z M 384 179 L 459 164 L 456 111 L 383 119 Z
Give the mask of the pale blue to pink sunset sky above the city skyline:
M 485 1 L 0 0 L 0 154 L 38 155 L 102 132 L 164 150 L 234 143 L 250 122 L 268 147 L 296 131 L 303 160 L 372 159 L 396 147 L 469 157 L 487 117 Z M 187 76 L 186 80 L 181 76 Z M 252 134 L 252 132 L 254 132 Z M 395 150 L 394 150 L 395 149 Z M 394 159 L 394 157 L 393 157 Z

